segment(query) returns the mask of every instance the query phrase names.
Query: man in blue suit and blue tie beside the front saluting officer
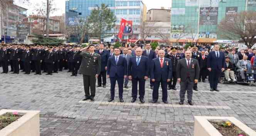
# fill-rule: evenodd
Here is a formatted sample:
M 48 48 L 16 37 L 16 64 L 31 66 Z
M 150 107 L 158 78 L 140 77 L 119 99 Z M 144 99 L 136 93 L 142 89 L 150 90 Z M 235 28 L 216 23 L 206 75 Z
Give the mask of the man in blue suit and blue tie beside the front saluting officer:
M 108 102 L 111 102 L 115 98 L 115 86 L 116 81 L 118 83 L 119 100 L 123 103 L 123 82 L 127 76 L 127 61 L 120 55 L 120 49 L 115 48 L 115 55 L 109 57 L 107 63 L 107 75 L 110 78 L 110 98 Z

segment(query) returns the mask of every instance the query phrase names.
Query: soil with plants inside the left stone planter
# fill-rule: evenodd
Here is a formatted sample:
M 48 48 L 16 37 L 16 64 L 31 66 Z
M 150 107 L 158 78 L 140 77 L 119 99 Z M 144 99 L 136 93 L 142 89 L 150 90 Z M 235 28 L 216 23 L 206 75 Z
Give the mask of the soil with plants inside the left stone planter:
M 0 115 L 0 130 L 19 119 L 22 115 L 5 113 Z

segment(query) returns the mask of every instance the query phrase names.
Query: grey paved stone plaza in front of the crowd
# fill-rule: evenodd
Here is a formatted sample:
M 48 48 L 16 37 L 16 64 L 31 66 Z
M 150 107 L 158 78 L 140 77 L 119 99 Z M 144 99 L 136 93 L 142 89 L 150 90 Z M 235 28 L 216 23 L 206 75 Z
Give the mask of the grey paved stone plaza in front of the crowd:
M 220 84 L 221 92 L 210 92 L 209 83 L 199 83 L 194 106 L 187 101 L 180 106 L 179 91 L 173 90 L 168 91 L 169 104 L 161 101 L 161 94 L 157 104 L 150 103 L 148 83 L 145 104 L 138 99 L 130 103 L 130 88 L 124 90 L 125 103 L 118 102 L 118 91 L 115 102 L 108 103 L 108 84 L 97 88 L 90 102 L 81 101 L 82 76 L 70 75 L 1 74 L 0 109 L 40 110 L 41 136 L 193 136 L 194 116 L 234 116 L 256 130 L 255 86 Z

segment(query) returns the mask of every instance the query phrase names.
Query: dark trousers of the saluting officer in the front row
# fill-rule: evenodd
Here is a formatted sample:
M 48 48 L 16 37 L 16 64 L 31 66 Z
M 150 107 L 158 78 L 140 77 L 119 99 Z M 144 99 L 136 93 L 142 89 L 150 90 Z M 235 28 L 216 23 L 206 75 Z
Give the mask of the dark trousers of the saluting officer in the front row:
M 84 93 L 86 98 L 94 98 L 96 92 L 96 78 L 95 76 L 83 75 Z M 91 95 L 90 95 L 91 89 Z

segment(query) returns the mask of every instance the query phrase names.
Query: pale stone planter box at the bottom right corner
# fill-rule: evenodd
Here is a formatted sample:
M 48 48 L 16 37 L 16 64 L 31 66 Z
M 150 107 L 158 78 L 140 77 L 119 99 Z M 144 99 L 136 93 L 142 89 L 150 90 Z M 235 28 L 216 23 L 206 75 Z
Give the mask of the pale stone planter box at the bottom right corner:
M 230 121 L 249 136 L 256 136 L 256 132 L 234 117 L 194 116 L 194 136 L 222 136 L 219 131 L 209 123 L 208 120 Z

